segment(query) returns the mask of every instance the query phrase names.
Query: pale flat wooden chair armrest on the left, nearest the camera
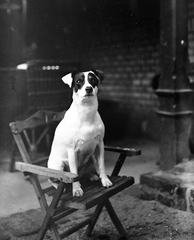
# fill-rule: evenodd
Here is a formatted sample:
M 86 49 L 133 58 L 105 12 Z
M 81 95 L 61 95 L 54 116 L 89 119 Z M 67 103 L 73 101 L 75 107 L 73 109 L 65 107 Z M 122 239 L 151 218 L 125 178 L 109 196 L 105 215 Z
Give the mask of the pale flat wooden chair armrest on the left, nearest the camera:
M 15 168 L 20 172 L 34 173 L 45 177 L 57 178 L 59 181 L 65 183 L 73 183 L 78 181 L 78 176 L 76 174 L 50 169 L 47 167 L 41 167 L 29 163 L 16 162 Z

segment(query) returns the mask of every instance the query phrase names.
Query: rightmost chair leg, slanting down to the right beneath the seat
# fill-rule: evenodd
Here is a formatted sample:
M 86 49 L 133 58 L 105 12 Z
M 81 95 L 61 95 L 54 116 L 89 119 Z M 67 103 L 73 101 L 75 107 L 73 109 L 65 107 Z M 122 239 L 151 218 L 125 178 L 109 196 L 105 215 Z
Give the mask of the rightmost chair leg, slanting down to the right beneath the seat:
M 123 228 L 120 220 L 118 219 L 115 211 L 114 211 L 114 208 L 112 207 L 112 204 L 110 203 L 109 199 L 106 200 L 106 202 L 104 203 L 105 205 L 105 208 L 112 220 L 112 222 L 114 223 L 117 231 L 119 232 L 119 234 L 123 237 L 125 237 L 125 239 L 129 239 L 129 236 L 127 234 L 127 232 L 125 231 L 125 229 Z

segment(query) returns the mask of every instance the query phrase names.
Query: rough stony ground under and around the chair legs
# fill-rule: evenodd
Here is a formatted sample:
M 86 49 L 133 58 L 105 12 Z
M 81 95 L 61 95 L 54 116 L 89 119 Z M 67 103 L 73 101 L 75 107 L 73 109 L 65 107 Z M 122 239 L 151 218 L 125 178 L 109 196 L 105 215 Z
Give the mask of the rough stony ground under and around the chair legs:
M 123 226 L 131 240 L 193 240 L 194 214 L 168 208 L 156 201 L 139 198 L 141 186 L 134 185 L 111 198 Z M 92 213 L 78 211 L 60 222 L 60 229 L 83 221 Z M 13 214 L 0 219 L 0 240 L 35 240 L 42 221 L 40 209 Z M 45 239 L 52 239 L 49 232 Z M 106 211 L 103 210 L 91 237 L 84 229 L 66 238 L 69 240 L 116 240 L 119 237 Z

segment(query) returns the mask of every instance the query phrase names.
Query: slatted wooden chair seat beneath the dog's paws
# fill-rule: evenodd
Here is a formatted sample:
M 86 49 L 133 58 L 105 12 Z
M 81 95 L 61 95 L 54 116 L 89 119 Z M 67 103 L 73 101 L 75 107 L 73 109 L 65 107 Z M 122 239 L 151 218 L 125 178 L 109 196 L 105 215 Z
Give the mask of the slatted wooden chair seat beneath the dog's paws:
M 82 189 L 84 191 L 82 197 L 73 197 L 72 185 L 68 184 L 66 191 L 61 198 L 61 205 L 68 208 L 87 210 L 134 184 L 133 177 L 114 176 L 110 177 L 110 180 L 112 181 L 113 186 L 109 188 L 103 187 L 100 180 L 89 181 L 85 179 L 81 181 Z M 56 189 L 54 187 L 49 187 L 45 189 L 44 192 L 49 197 L 52 197 L 55 194 Z

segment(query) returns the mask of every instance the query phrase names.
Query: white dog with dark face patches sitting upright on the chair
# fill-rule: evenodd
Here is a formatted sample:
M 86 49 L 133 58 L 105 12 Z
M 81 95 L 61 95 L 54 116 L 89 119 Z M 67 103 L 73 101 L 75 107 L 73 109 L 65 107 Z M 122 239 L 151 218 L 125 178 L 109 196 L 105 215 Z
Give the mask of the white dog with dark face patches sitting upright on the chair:
M 98 86 L 104 79 L 100 70 L 73 72 L 62 80 L 73 89 L 73 101 L 55 130 L 48 167 L 70 171 L 90 180 L 101 179 L 104 187 L 112 186 L 104 163 L 105 127 L 98 112 Z M 51 180 L 57 188 L 58 184 Z M 72 194 L 83 195 L 80 182 L 74 182 Z

